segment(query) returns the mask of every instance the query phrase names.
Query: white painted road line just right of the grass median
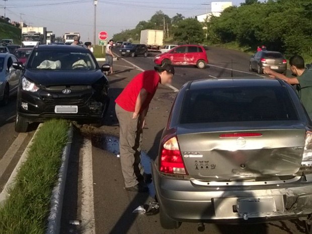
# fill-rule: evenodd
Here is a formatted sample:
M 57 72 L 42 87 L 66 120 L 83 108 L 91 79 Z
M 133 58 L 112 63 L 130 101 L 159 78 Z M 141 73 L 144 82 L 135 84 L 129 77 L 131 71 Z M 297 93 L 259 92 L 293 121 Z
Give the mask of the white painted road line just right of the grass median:
M 81 148 L 82 155 L 82 201 L 81 219 L 82 233 L 95 234 L 95 214 L 94 214 L 94 193 L 93 193 L 93 165 L 92 165 L 92 143 L 89 139 L 84 139 Z

